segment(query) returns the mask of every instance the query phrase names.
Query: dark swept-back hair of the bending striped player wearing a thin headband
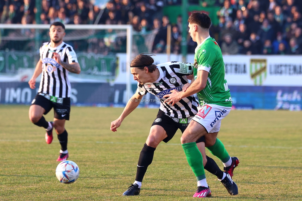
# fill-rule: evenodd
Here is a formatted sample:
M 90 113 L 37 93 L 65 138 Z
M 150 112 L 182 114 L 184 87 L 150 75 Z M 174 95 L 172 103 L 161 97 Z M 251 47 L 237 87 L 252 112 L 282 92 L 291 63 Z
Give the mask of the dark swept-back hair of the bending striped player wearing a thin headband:
M 155 56 L 155 54 L 149 54 L 149 53 L 141 53 L 137 55 L 130 64 L 131 68 L 138 68 L 140 70 L 143 70 L 145 67 L 148 68 L 150 73 L 155 71 L 156 65 L 153 64 L 154 59 L 151 56 Z

